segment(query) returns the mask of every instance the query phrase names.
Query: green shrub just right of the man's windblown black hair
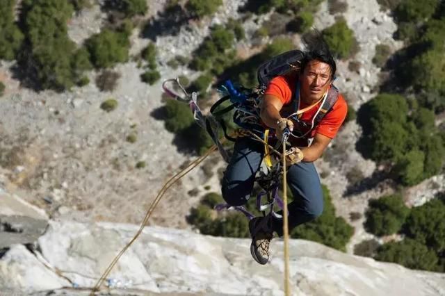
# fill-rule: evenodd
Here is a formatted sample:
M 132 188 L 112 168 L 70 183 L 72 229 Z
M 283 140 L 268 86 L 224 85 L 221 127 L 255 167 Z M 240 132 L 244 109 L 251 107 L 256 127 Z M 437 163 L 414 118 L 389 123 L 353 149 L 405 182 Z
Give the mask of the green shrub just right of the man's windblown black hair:
M 351 58 L 358 50 L 354 32 L 343 18 L 337 19 L 332 26 L 323 30 L 323 38 L 329 45 L 332 54 L 341 59 Z

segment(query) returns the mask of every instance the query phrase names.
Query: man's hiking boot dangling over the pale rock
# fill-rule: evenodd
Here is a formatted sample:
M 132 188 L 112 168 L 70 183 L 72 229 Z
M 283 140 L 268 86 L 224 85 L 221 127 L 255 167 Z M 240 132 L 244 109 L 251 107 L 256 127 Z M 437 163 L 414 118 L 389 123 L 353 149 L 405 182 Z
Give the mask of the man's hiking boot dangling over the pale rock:
M 250 244 L 250 254 L 259 264 L 266 264 L 269 260 L 269 244 L 273 238 L 271 230 L 270 217 L 254 217 L 249 222 L 250 236 L 252 243 Z

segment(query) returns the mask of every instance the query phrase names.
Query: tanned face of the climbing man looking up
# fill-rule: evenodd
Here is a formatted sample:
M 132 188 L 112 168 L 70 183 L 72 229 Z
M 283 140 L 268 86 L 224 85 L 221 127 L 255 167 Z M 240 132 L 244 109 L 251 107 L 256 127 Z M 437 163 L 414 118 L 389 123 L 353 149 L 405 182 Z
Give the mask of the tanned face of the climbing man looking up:
M 331 83 L 331 67 L 319 60 L 311 60 L 300 76 L 301 99 L 313 104 L 323 97 Z

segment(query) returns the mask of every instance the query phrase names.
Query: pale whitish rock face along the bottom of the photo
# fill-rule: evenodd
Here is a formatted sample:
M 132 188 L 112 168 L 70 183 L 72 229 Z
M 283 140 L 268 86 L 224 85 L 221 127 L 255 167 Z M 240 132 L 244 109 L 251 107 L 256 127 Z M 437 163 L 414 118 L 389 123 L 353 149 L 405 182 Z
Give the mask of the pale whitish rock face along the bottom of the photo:
M 50 221 L 38 240 L 41 254 L 15 245 L 0 259 L 0 290 L 44 295 L 73 285 L 79 288 L 66 293 L 85 295 L 82 288 L 94 286 L 137 229 Z M 249 240 L 146 227 L 107 278 L 108 292 L 282 295 L 282 241 L 273 241 L 265 266 L 252 260 L 249 246 Z M 379 263 L 305 240 L 291 240 L 290 250 L 293 295 L 445 295 L 445 274 Z

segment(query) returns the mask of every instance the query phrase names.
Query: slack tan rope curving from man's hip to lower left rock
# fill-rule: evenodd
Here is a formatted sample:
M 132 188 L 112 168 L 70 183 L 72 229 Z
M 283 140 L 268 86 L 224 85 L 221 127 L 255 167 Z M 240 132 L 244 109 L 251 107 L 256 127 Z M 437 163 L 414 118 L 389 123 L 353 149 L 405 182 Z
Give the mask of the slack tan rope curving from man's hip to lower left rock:
M 115 256 L 113 261 L 111 261 L 110 265 L 108 265 L 108 268 L 106 268 L 104 274 L 102 274 L 102 276 L 100 277 L 99 281 L 97 281 L 97 283 L 95 284 L 94 288 L 92 288 L 90 296 L 95 295 L 95 292 L 99 290 L 100 286 L 105 281 L 106 277 L 108 277 L 108 274 L 110 274 L 111 270 L 113 269 L 114 265 L 118 262 L 118 260 L 122 256 L 122 254 L 124 254 L 124 252 L 127 251 L 127 249 L 131 246 L 131 244 L 133 244 L 133 242 L 138 238 L 138 236 L 140 236 L 140 233 L 142 233 L 145 225 L 148 222 L 149 217 L 152 215 L 152 213 L 154 211 L 154 208 L 156 208 L 157 204 L 159 203 L 159 201 L 161 200 L 161 198 L 165 194 L 165 191 L 167 191 L 168 188 L 170 188 L 174 183 L 179 181 L 179 179 L 181 179 L 183 176 L 185 176 L 188 172 L 193 170 L 197 165 L 202 163 L 202 161 L 204 161 L 204 159 L 207 158 L 207 156 L 209 156 L 216 149 L 217 149 L 216 145 L 213 145 L 203 156 L 201 156 L 200 158 L 197 158 L 190 165 L 188 165 L 184 170 L 181 170 L 180 172 L 178 172 L 177 174 L 172 176 L 164 184 L 163 188 L 161 188 L 161 190 L 159 191 L 158 195 L 156 195 L 156 198 L 154 199 L 154 201 L 152 202 L 151 206 L 149 207 L 143 222 L 140 224 L 140 228 L 139 228 L 138 232 L 130 240 L 130 242 L 119 252 L 119 254 L 117 256 Z

